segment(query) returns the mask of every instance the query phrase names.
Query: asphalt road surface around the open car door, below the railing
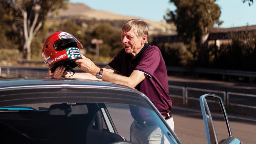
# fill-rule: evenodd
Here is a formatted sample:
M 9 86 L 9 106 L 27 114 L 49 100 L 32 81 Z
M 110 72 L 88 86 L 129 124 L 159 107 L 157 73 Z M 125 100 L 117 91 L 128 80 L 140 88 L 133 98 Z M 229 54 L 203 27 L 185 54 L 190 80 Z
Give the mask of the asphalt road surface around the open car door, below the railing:
M 174 132 L 183 144 L 206 143 L 201 111 L 174 106 L 172 108 L 172 116 L 174 119 Z M 228 119 L 233 137 L 242 140 L 244 144 L 253 144 L 256 142 L 256 120 L 244 119 L 239 116 L 229 116 Z M 214 121 L 214 126 L 219 141 L 225 136 L 228 136 L 224 122 Z

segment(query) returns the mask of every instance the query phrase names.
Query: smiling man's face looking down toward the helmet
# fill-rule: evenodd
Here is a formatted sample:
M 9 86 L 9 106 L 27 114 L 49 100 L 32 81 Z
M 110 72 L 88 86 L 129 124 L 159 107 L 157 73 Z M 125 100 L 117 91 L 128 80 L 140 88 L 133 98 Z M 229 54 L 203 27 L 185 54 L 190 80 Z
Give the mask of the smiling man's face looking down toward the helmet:
M 126 53 L 135 56 L 143 47 L 142 43 L 142 38 L 138 38 L 132 29 L 127 32 L 122 31 L 122 44 Z

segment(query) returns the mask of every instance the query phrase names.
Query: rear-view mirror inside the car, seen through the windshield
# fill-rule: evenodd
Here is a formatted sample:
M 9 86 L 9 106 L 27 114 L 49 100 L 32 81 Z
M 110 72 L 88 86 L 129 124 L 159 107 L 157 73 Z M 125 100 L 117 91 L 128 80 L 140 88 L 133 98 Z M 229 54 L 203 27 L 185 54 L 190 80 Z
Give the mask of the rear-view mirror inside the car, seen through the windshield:
M 71 115 L 82 115 L 88 114 L 88 108 L 86 104 L 76 103 L 62 103 L 54 104 L 49 108 L 49 114 L 53 116 L 71 116 Z

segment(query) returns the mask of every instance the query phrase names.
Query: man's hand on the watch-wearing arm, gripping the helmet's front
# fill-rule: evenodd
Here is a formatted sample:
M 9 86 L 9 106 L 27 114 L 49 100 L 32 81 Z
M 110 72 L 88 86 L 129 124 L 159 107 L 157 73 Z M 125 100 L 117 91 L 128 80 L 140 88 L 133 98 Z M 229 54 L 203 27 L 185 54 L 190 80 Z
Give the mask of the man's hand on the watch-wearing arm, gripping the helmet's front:
M 80 69 L 92 74 L 93 76 L 99 73 L 100 68 L 97 67 L 90 59 L 86 58 L 84 55 L 81 55 L 81 58 L 82 59 L 74 60 Z

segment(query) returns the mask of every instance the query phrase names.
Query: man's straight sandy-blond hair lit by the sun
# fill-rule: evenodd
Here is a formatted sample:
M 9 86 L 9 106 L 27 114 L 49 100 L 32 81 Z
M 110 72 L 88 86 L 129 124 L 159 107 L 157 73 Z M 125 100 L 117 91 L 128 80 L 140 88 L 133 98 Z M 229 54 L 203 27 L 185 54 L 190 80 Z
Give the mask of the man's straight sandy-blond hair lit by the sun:
M 122 27 L 122 31 L 127 32 L 131 29 L 133 29 L 138 38 L 142 38 L 143 35 L 147 35 L 146 43 L 148 43 L 148 27 L 146 22 L 139 19 L 126 21 Z

